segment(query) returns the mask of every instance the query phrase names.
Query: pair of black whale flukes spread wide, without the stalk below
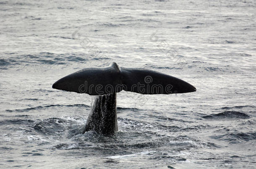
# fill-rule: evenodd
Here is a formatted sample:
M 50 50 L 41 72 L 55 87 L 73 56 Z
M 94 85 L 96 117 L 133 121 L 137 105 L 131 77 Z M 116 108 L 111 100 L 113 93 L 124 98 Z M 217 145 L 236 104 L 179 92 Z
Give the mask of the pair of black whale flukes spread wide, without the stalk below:
M 122 90 L 141 94 L 172 94 L 196 91 L 191 84 L 157 71 L 119 68 L 114 62 L 106 68 L 86 68 L 56 81 L 52 88 L 104 95 Z

